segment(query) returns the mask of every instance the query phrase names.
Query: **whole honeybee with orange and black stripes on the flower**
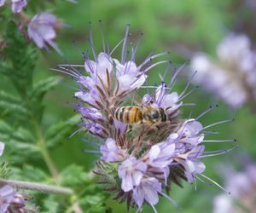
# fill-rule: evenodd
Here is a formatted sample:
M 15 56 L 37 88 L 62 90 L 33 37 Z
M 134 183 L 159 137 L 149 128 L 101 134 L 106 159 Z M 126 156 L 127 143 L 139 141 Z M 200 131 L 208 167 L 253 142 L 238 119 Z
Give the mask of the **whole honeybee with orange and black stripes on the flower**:
M 115 109 L 113 118 L 127 124 L 154 124 L 165 122 L 167 116 L 164 109 L 160 107 L 127 106 Z

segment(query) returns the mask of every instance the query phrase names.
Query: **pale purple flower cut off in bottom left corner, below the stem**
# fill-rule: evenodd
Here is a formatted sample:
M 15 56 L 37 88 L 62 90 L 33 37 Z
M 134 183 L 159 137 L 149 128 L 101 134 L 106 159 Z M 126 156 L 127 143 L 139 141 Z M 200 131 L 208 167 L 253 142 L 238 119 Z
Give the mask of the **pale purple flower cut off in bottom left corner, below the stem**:
M 15 190 L 13 187 L 6 185 L 0 188 L 0 212 L 6 212 L 9 204 L 15 199 Z

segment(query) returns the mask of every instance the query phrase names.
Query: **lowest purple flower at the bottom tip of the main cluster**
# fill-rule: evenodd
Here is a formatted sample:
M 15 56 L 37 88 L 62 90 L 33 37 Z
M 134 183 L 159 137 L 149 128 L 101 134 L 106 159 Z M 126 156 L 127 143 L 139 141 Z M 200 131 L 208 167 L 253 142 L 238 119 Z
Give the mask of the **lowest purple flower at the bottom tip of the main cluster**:
M 139 186 L 133 189 L 132 199 L 137 204 L 138 209 L 141 209 L 144 200 L 154 206 L 159 201 L 158 193 L 160 192 L 160 181 L 154 177 L 143 178 Z

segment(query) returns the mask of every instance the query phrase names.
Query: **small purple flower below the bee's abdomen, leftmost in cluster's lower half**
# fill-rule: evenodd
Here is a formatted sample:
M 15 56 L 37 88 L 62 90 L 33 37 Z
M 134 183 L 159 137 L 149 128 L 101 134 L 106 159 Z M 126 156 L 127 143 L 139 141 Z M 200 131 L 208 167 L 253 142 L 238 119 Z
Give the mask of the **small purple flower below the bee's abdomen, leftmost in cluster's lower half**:
M 101 146 L 100 151 L 102 153 L 101 159 L 106 162 L 116 162 L 124 160 L 128 157 L 125 150 L 122 150 L 116 145 L 116 141 L 112 138 L 108 138 L 105 143 Z

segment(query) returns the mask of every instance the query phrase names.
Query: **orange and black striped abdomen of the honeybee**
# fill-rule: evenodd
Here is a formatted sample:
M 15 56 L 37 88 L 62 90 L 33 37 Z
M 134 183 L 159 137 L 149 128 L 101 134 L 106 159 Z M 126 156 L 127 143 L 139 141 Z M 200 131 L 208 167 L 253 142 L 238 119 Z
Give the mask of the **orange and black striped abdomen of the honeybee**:
M 113 117 L 123 123 L 137 123 L 143 119 L 143 114 L 140 107 L 119 107 Z

